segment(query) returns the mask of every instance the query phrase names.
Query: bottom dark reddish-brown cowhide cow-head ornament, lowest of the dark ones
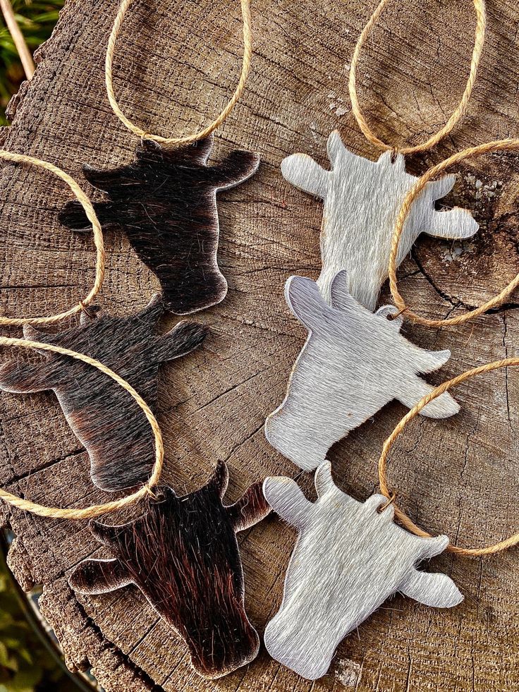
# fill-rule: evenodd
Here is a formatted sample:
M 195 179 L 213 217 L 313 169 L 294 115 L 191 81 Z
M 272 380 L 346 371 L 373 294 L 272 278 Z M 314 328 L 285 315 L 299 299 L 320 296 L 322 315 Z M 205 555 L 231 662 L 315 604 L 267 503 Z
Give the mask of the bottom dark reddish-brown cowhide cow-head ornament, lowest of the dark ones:
M 123 526 L 92 521 L 94 536 L 114 559 L 89 559 L 69 579 L 79 593 L 101 594 L 135 584 L 187 643 L 193 667 L 218 678 L 252 661 L 257 632 L 245 613 L 236 532 L 269 513 L 259 483 L 235 504 L 222 502 L 224 462 L 200 490 L 179 497 L 159 487 L 145 514 Z

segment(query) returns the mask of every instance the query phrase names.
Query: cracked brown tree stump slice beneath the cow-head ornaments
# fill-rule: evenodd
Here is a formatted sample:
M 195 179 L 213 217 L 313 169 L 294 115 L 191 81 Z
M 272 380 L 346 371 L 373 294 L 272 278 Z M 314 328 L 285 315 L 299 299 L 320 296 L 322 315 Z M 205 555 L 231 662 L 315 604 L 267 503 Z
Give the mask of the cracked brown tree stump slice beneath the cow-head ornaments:
M 512 0 L 488 5 L 489 35 L 468 118 L 439 151 L 411 159 L 412 174 L 468 145 L 519 135 L 519 10 Z M 263 423 L 283 399 L 305 341 L 305 329 L 286 307 L 283 285 L 291 274 L 319 274 L 322 204 L 287 183 L 279 166 L 296 151 L 326 166 L 326 139 L 336 128 L 353 152 L 378 158 L 350 115 L 346 86 L 355 39 L 373 6 L 355 0 L 252 4 L 250 87 L 216 134 L 215 151 L 219 157 L 256 151 L 262 166 L 243 186 L 221 195 L 226 230 L 219 266 L 229 291 L 197 316 L 210 324 L 211 334 L 159 382 L 164 483 L 178 493 L 203 485 L 218 459 L 228 463 L 230 501 L 266 475 L 300 473 L 271 449 Z M 104 94 L 103 51 L 115 13 L 111 0 L 68 4 L 39 51 L 34 80 L 13 104 L 15 121 L 4 135 L 9 148 L 45 157 L 79 179 L 83 162 L 110 169 L 133 161 L 138 142 L 115 119 Z M 445 122 L 465 85 L 474 24 L 465 0 L 389 4 L 359 75 L 365 110 L 383 138 L 417 142 Z M 123 108 L 163 134 L 207 122 L 236 85 L 240 32 L 235 0 L 135 0 L 116 51 L 115 86 Z M 59 225 L 71 195 L 51 176 L 13 165 L 2 166 L 0 190 L 2 310 L 36 315 L 77 301 L 93 275 L 94 248 L 88 236 Z M 92 192 L 86 184 L 85 190 Z M 450 203 L 473 210 L 482 228 L 463 243 L 420 236 L 400 269 L 403 293 L 414 308 L 430 316 L 458 314 L 515 275 L 518 190 L 514 154 L 463 166 Z M 128 315 L 149 301 L 157 280 L 121 234 L 108 234 L 107 247 L 100 302 L 111 313 Z M 383 292 L 380 304 L 388 302 Z M 506 310 L 457 329 L 405 324 L 403 332 L 423 348 L 452 351 L 431 376 L 439 382 L 472 363 L 519 355 L 518 305 L 514 297 Z M 164 329 L 175 321 L 167 318 Z M 519 529 L 518 384 L 513 368 L 467 382 L 453 391 L 462 404 L 458 415 L 416 420 L 398 443 L 390 481 L 398 501 L 429 530 L 463 545 L 484 545 Z M 404 413 L 391 403 L 332 448 L 341 490 L 356 499 L 377 492 L 375 461 Z M 0 419 L 2 485 L 47 504 L 106 499 L 92 486 L 87 455 L 51 395 L 1 394 Z M 298 483 L 312 498 L 312 480 L 301 474 Z M 341 643 L 329 675 L 313 686 L 271 660 L 263 647 L 249 667 L 207 683 L 144 596 L 121 590 L 74 597 L 67 573 L 93 553 L 109 557 L 85 523 L 44 521 L 8 509 L 3 516 L 18 535 L 11 552 L 18 579 L 25 586 L 44 583 L 44 612 L 68 662 L 93 664 L 109 692 L 141 692 L 154 684 L 157 692 L 501 692 L 519 686 L 517 551 L 484 561 L 434 558 L 428 569 L 451 576 L 465 595 L 463 604 L 436 612 L 395 597 L 360 626 L 358 637 Z M 293 538 L 272 516 L 238 540 L 245 605 L 260 635 L 279 609 Z

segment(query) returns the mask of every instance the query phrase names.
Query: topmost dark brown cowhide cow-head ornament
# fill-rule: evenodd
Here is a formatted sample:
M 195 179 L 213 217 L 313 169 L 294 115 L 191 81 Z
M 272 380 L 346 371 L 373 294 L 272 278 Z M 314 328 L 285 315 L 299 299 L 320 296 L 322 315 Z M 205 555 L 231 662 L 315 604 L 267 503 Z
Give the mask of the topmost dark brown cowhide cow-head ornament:
M 143 140 L 135 162 L 110 171 L 84 166 L 87 181 L 108 195 L 94 204 L 105 229 L 120 229 L 142 262 L 157 275 L 167 310 L 177 315 L 222 301 L 227 281 L 216 261 L 216 193 L 255 174 L 259 157 L 245 151 L 207 166 L 213 137 L 176 149 Z M 69 202 L 61 223 L 90 230 L 83 207 Z

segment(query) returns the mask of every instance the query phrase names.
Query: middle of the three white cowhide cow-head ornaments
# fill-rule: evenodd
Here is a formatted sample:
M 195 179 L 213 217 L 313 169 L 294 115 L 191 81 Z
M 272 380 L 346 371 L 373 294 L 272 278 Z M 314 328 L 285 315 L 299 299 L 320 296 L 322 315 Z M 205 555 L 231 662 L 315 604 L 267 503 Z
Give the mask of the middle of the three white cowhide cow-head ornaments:
M 397 399 L 413 408 L 432 387 L 418 373 L 444 365 L 450 351 L 426 351 L 400 333 L 396 308 L 373 313 L 348 291 L 346 272 L 330 286 L 331 305 L 311 279 L 290 277 L 285 298 L 309 336 L 300 352 L 285 400 L 265 423 L 270 444 L 293 463 L 311 471 L 329 448 Z M 429 418 L 447 418 L 459 406 L 448 392 L 422 409 Z

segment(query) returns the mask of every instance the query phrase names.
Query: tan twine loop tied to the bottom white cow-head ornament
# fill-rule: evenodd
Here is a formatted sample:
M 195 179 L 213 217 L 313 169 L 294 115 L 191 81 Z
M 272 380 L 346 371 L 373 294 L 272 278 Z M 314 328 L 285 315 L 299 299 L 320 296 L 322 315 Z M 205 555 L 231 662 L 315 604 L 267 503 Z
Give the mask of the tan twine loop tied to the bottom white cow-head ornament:
M 391 435 L 389 435 L 389 437 L 386 439 L 386 442 L 384 442 L 384 447 L 382 447 L 382 452 L 379 459 L 379 483 L 382 494 L 384 494 L 388 499 L 391 499 L 391 497 L 394 499 L 394 493 L 389 490 L 387 485 L 387 459 L 389 456 L 389 451 L 391 450 L 391 447 L 393 447 L 396 438 L 401 434 L 401 432 L 403 432 L 403 429 L 409 423 L 409 421 L 416 418 L 418 413 L 422 411 L 424 406 L 427 406 L 429 401 L 436 399 L 438 396 L 443 394 L 444 391 L 451 389 L 451 387 L 456 387 L 456 385 L 460 384 L 460 382 L 465 382 L 465 380 L 469 380 L 470 377 L 475 377 L 475 375 L 482 375 L 484 372 L 492 372 L 492 370 L 498 370 L 499 368 L 508 368 L 509 365 L 519 365 L 519 358 L 504 358 L 503 360 L 496 360 L 494 363 L 487 363 L 486 365 L 480 365 L 479 368 L 472 368 L 472 370 L 462 372 L 462 374 L 458 375 L 458 377 L 453 377 L 452 380 L 448 380 L 447 382 L 440 384 L 439 387 L 433 389 L 429 394 L 424 396 L 423 399 L 420 399 L 416 406 L 411 408 L 411 410 L 404 415 L 400 423 L 398 423 L 393 432 L 391 432 Z M 395 515 L 402 526 L 417 536 L 422 536 L 422 538 L 431 538 L 431 534 L 427 533 L 427 531 L 423 530 L 413 521 L 411 521 L 410 518 L 404 514 L 404 512 L 399 509 L 398 506 L 396 506 L 395 502 L 393 502 L 393 505 L 395 508 Z M 462 548 L 458 545 L 448 545 L 446 550 L 454 552 L 458 555 L 477 557 L 481 555 L 492 555 L 496 552 L 508 550 L 508 548 L 518 545 L 518 543 L 519 533 L 515 533 L 514 535 L 510 536 L 510 538 L 506 538 L 506 540 L 502 540 L 499 543 L 495 543 L 494 545 L 489 545 L 484 548 Z

